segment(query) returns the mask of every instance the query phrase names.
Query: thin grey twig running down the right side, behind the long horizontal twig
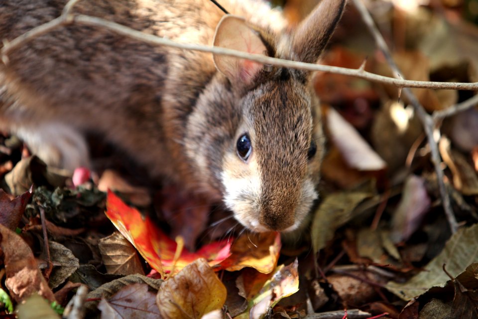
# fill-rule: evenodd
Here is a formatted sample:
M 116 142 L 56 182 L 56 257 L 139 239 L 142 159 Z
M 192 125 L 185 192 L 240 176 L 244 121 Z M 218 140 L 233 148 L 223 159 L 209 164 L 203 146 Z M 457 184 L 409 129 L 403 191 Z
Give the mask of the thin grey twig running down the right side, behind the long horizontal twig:
M 368 12 L 368 10 L 365 8 L 365 6 L 360 0 L 353 0 L 353 1 L 357 9 L 359 10 L 359 13 L 363 21 L 367 25 L 369 31 L 372 33 L 372 36 L 374 37 L 377 46 L 382 51 L 389 66 L 394 71 L 395 76 L 398 78 L 403 78 L 403 76 L 400 73 L 400 70 L 398 69 L 397 65 L 393 61 L 393 58 L 391 56 L 390 51 L 388 50 L 388 46 L 385 43 L 385 40 L 383 39 L 382 35 L 376 28 L 370 13 Z M 418 102 L 417 98 L 415 97 L 415 95 L 412 93 L 412 91 L 409 88 L 403 88 L 403 94 L 408 99 L 408 101 L 410 101 L 413 108 L 415 109 L 415 112 L 417 113 L 418 118 L 422 122 L 423 128 L 425 130 L 425 134 L 427 135 L 428 144 L 430 145 L 431 159 L 435 168 L 435 172 L 437 174 L 440 195 L 442 197 L 443 209 L 445 210 L 445 214 L 447 216 L 450 229 L 452 233 L 454 234 L 456 233 L 458 229 L 458 223 L 453 213 L 453 209 L 450 203 L 450 197 L 448 196 L 447 190 L 445 188 L 444 173 L 440 167 L 440 164 L 441 164 L 440 153 L 438 151 L 438 146 L 434 138 L 435 122 L 432 119 L 432 116 L 429 115 L 425 111 L 423 106 L 420 104 L 420 102 Z

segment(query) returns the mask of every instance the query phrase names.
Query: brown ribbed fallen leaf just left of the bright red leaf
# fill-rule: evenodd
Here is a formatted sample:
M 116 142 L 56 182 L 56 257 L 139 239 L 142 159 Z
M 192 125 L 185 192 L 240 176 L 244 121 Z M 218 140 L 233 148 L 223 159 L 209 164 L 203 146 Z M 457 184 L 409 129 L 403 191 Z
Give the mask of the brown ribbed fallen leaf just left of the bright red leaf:
M 109 274 L 144 275 L 137 250 L 119 232 L 100 239 L 98 243 L 103 263 Z

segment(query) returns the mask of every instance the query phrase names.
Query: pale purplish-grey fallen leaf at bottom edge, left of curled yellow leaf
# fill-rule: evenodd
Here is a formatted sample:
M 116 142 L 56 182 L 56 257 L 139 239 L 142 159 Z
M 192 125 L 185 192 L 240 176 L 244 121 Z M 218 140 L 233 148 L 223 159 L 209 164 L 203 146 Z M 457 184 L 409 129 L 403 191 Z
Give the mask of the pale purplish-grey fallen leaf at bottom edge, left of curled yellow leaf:
M 110 318 L 161 318 L 156 306 L 156 294 L 148 291 L 148 285 L 132 284 L 123 287 L 115 295 L 102 299 L 98 305 L 102 319 Z

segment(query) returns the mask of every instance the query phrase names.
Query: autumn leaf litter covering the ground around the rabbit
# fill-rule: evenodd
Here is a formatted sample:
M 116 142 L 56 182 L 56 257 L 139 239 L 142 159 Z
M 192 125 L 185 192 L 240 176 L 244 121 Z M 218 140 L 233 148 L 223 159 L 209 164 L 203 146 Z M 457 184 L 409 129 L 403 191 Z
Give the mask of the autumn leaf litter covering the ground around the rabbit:
M 307 1 L 284 8 L 291 19 L 298 2 Z M 464 18 L 478 14 L 468 2 L 392 2 L 368 4 L 407 79 L 477 81 L 478 27 Z M 358 21 L 351 6 L 322 62 L 390 74 Z M 228 233 L 210 219 L 221 208 L 138 183 L 124 166 L 71 174 L 0 136 L 0 316 L 61 318 L 79 307 L 84 318 L 477 318 L 477 107 L 438 127 L 461 226 L 452 235 L 400 90 L 333 74 L 314 86 L 328 141 L 321 199 L 311 226 L 282 238 Z M 413 91 L 429 113 L 473 94 Z

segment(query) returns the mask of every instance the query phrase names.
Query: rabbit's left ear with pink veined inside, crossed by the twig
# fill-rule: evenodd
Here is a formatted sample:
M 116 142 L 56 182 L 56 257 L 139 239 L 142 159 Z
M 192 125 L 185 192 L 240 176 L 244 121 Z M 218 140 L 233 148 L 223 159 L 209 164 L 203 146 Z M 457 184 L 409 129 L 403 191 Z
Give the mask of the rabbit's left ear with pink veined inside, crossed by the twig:
M 239 16 L 225 15 L 214 35 L 214 46 L 266 55 L 267 48 L 259 33 Z M 214 54 L 216 68 L 233 83 L 250 84 L 263 65 L 246 59 Z

